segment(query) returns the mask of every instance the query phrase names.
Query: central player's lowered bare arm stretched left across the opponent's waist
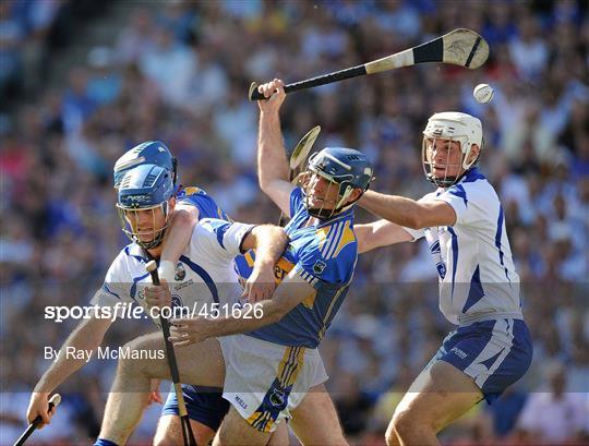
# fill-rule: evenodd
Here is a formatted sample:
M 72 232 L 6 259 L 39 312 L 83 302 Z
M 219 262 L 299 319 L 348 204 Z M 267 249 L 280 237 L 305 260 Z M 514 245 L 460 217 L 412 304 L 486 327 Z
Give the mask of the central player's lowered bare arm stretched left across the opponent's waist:
M 291 270 L 280 282 L 271 300 L 256 303 L 255 312 L 241 315 L 249 316 L 248 318 L 229 316 L 172 320 L 171 340 L 175 346 L 188 346 L 211 337 L 253 332 L 279 322 L 290 310 L 315 292 L 316 290 L 297 272 Z

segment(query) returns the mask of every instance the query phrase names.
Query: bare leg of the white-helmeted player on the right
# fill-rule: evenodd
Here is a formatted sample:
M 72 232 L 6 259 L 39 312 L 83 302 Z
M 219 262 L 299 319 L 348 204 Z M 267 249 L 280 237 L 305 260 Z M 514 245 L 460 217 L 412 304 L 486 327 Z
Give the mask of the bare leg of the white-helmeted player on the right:
M 473 378 L 444 361 L 411 384 L 386 431 L 390 445 L 438 445 L 436 434 L 477 405 L 483 395 Z

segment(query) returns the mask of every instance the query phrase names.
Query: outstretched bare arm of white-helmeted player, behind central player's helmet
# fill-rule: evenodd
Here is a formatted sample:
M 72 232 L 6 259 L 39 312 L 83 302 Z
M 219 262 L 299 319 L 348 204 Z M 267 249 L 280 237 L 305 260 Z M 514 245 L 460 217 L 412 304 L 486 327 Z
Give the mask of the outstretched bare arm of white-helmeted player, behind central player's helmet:
M 417 202 L 404 196 L 366 191 L 359 204 L 388 221 L 411 229 L 454 226 L 456 222 L 454 207 L 437 200 Z

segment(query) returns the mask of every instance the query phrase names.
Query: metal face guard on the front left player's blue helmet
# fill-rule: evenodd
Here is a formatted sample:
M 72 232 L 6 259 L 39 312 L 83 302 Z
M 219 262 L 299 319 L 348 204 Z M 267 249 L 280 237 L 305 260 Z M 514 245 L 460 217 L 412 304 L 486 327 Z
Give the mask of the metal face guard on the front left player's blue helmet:
M 164 241 L 164 233 L 169 224 L 169 206 L 168 202 L 157 204 L 151 207 L 124 207 L 117 203 L 117 210 L 119 214 L 119 219 L 121 220 L 121 227 L 124 234 L 132 242 L 139 244 L 140 246 L 152 250 L 157 248 Z M 149 213 L 149 217 L 142 217 L 140 213 Z M 160 228 L 157 228 L 158 215 L 161 213 L 164 216 L 164 225 Z M 151 219 L 149 230 L 141 230 L 141 220 Z M 146 236 L 149 238 L 144 241 Z

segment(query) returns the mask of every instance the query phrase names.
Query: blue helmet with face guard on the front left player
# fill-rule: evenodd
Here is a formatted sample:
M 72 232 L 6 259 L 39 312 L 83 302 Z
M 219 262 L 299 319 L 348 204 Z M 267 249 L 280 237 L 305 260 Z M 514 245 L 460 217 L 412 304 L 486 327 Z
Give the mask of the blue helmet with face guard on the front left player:
M 119 184 L 117 200 L 127 237 L 147 250 L 161 243 L 169 217 L 168 203 L 172 196 L 175 186 L 169 170 L 156 165 L 141 165 L 128 170 Z M 151 214 L 141 214 L 149 210 Z M 159 212 L 164 221 L 156 227 L 158 220 L 161 221 Z

